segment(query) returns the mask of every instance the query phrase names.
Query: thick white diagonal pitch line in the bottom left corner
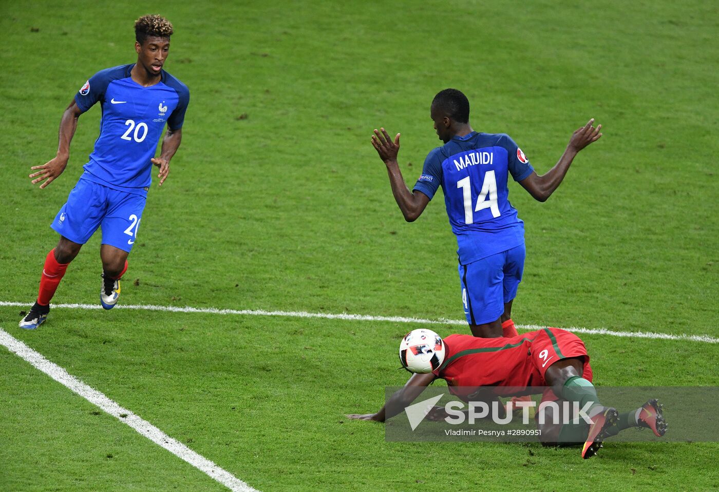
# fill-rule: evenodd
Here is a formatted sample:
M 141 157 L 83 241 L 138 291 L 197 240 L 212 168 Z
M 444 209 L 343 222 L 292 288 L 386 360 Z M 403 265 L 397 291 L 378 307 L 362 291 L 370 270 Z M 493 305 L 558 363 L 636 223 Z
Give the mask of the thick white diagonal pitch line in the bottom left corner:
M 67 386 L 88 402 L 95 404 L 100 409 L 118 419 L 120 422 L 129 425 L 140 435 L 147 437 L 147 439 L 155 442 L 155 444 L 164 447 L 166 450 L 173 453 L 173 455 L 185 460 L 198 470 L 201 470 L 211 478 L 214 478 L 214 480 L 226 486 L 231 491 L 257 492 L 254 488 L 248 486 L 247 483 L 244 483 L 239 480 L 239 478 L 232 475 L 232 473 L 223 470 L 207 458 L 203 458 L 203 456 L 198 455 L 189 447 L 183 445 L 182 442 L 174 440 L 172 437 L 165 434 L 165 432 L 162 432 L 160 429 L 157 429 L 157 427 L 150 424 L 150 422 L 143 420 L 136 414 L 130 412 L 128 409 L 120 407 L 119 404 L 113 402 L 100 391 L 92 389 L 87 384 L 75 378 L 75 376 L 72 376 L 68 373 L 68 371 L 65 371 L 65 369 L 48 361 L 42 356 L 42 354 L 32 350 L 32 348 L 29 348 L 20 340 L 12 337 L 12 335 L 7 333 L 2 328 L 0 328 L 0 344 L 4 345 L 9 351 L 32 364 L 32 366 L 36 369 L 39 369 L 47 374 L 47 376 L 50 376 L 52 379 L 55 379 L 55 381 L 58 381 L 58 383 Z

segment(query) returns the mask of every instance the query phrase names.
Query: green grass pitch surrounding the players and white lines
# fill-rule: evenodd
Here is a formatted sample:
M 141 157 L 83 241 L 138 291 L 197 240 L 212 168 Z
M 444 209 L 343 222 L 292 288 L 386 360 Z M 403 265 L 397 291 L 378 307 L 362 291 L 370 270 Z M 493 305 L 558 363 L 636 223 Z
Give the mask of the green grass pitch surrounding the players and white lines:
M 75 90 L 134 61 L 147 9 L 0 6 L 0 300 L 37 293 L 99 108 L 81 116 L 62 177 L 37 190 L 29 167 L 54 154 Z M 577 126 L 603 124 L 548 203 L 510 185 L 527 243 L 516 322 L 716 335 L 712 4 L 178 1 L 158 13 L 175 24 L 165 66 L 191 105 L 123 304 L 461 318 L 441 198 L 404 223 L 369 143 L 378 126 L 401 132 L 413 182 L 439 145 L 431 98 L 456 87 L 474 128 L 513 136 L 538 172 Z M 55 302 L 96 302 L 98 251 L 93 238 Z M 403 383 L 395 350 L 411 325 L 58 309 L 25 332 L 18 312 L 0 307 L 0 326 L 263 492 L 719 488 L 714 443 L 608 444 L 582 462 L 534 444 L 385 442 L 381 424 L 348 422 Z M 582 339 L 598 385 L 718 382 L 717 345 Z M 0 488 L 223 489 L 4 349 L 0 375 Z

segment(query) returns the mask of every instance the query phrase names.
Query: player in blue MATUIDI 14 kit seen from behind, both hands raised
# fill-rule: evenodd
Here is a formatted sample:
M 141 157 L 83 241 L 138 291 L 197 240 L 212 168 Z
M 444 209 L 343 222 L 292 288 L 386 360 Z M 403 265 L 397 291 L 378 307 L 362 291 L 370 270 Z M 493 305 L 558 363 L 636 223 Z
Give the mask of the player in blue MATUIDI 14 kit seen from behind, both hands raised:
M 537 175 L 524 152 L 506 134 L 477 133 L 470 126 L 470 101 L 459 90 L 434 97 L 430 116 L 444 146 L 427 156 L 409 190 L 397 164 L 400 134 L 385 129 L 372 145 L 385 162 L 392 193 L 408 222 L 415 221 L 441 185 L 452 232 L 457 236 L 462 302 L 472 334 L 494 338 L 517 334 L 512 302 L 524 268 L 524 223 L 508 200 L 509 175 L 536 200 L 557 190 L 577 152 L 602 136 L 594 119 L 574 131 L 559 162 Z

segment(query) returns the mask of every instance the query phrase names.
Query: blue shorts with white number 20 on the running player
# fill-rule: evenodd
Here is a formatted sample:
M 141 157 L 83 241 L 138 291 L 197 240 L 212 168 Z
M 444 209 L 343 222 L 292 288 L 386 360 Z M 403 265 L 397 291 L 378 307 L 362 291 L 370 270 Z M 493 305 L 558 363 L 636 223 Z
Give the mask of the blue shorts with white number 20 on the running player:
M 51 227 L 60 236 L 79 244 L 86 243 L 97 228 L 102 228 L 103 244 L 129 253 L 137 238 L 146 200 L 142 195 L 79 180 Z

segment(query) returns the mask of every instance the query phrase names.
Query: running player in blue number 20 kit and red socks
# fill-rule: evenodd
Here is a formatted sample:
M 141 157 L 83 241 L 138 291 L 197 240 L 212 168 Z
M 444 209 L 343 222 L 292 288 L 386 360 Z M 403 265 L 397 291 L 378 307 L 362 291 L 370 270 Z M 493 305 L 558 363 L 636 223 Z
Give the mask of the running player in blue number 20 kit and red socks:
M 100 136 L 68 202 L 52 222 L 60 241 L 45 258 L 37 302 L 20 321 L 20 328 L 37 328 L 45 321 L 68 264 L 97 228 L 102 230 L 100 303 L 106 310 L 116 305 L 152 182 L 152 165 L 159 167 L 157 177 L 162 185 L 170 172 L 170 159 L 180 147 L 190 92 L 162 70 L 173 25 L 158 15 L 147 15 L 137 19 L 134 29 L 137 62 L 93 75 L 63 113 L 58 154 L 31 168 L 36 170 L 29 175 L 32 184 L 42 182 L 40 188 L 60 176 L 68 164 L 78 118 L 100 103 Z M 155 157 L 165 124 L 168 130 L 160 157 Z

